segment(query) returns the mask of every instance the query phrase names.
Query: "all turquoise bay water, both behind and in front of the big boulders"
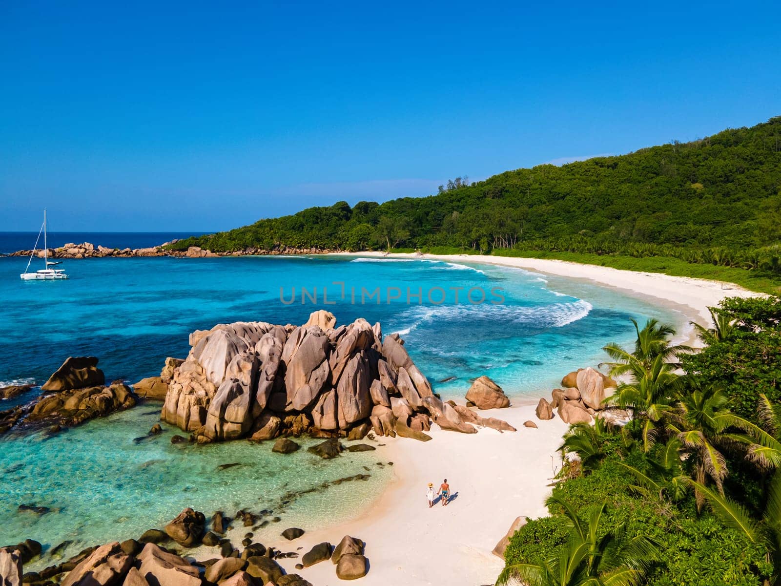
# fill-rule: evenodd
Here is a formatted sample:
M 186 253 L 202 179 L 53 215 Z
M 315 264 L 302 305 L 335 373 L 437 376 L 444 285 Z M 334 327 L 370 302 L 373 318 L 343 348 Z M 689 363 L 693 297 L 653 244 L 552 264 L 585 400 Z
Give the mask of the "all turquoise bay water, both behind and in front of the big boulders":
M 70 261 L 71 279 L 22 282 L 26 261 L 0 259 L 0 385 L 41 384 L 66 356 L 95 355 L 108 380 L 159 373 L 166 356 L 184 357 L 187 334 L 237 320 L 303 323 L 325 307 L 345 323 L 361 316 L 398 331 L 435 390 L 462 398 L 469 380 L 487 374 L 516 401 L 548 392 L 562 374 L 604 359 L 608 341 L 633 338 L 630 317 L 681 323 L 683 316 L 617 291 L 580 281 L 496 266 L 345 257 L 224 259 L 90 259 Z M 341 298 L 344 283 L 344 298 Z M 295 301 L 289 305 L 280 300 Z M 313 295 L 301 302 L 301 288 Z M 323 305 L 323 288 L 329 302 Z M 380 288 L 361 303 L 361 290 Z M 389 291 L 388 288 L 391 288 Z M 406 291 L 423 292 L 408 304 Z M 444 290 L 446 298 L 436 305 Z M 459 303 L 455 303 L 455 291 Z M 487 301 L 473 299 L 480 289 Z M 501 304 L 490 290 L 504 297 Z M 351 291 L 355 289 L 355 303 Z M 398 290 L 398 291 L 397 291 Z M 387 302 L 389 294 L 401 298 Z M 440 382 L 450 379 L 448 382 Z M 28 400 L 23 397 L 20 400 Z M 0 403 L 7 408 L 10 402 Z M 166 435 L 135 445 L 158 419 L 157 404 L 87 423 L 58 438 L 0 439 L 0 542 L 34 538 L 48 545 L 127 538 L 160 526 L 184 506 L 273 508 L 280 492 L 372 470 L 366 483 L 323 491 L 330 515 L 355 513 L 391 476 L 374 466 L 378 452 L 323 462 L 298 452 L 281 457 L 270 445 L 234 442 L 206 448 L 169 444 Z M 240 462 L 228 470 L 223 463 Z M 10 470 L 10 471 L 9 471 Z M 354 485 L 354 486 L 353 486 Z M 287 508 L 308 506 L 321 493 Z M 337 495 L 336 498 L 333 495 Z M 314 501 L 312 500 L 314 499 Z M 308 504 L 305 504 L 308 502 Z M 57 509 L 37 517 L 19 504 Z M 340 513 L 341 514 L 341 513 Z M 312 513 L 312 523 L 319 523 Z M 0 544 L 2 545 L 2 544 Z M 73 548 L 77 545 L 73 545 Z

